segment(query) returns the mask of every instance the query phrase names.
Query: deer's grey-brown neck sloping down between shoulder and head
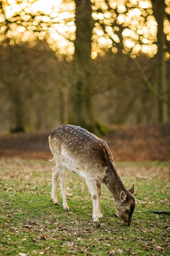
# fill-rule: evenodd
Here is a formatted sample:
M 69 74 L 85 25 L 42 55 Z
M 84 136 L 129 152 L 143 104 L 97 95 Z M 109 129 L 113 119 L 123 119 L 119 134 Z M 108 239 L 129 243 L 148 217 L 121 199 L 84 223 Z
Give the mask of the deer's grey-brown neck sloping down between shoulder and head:
M 108 167 L 103 183 L 113 195 L 115 202 L 120 201 L 121 191 L 127 191 L 114 165 Z

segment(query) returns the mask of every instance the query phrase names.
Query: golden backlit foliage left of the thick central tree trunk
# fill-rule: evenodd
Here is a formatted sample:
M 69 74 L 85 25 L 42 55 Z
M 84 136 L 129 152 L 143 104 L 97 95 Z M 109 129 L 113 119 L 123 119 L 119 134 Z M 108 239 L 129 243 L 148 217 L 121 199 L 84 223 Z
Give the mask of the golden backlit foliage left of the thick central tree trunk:
M 45 40 L 58 54 L 71 58 L 75 39 L 75 5 L 69 0 L 61 2 L 50 3 L 47 7 L 38 0 L 1 0 L 0 43 L 7 46 L 28 41 L 34 45 L 34 40 Z

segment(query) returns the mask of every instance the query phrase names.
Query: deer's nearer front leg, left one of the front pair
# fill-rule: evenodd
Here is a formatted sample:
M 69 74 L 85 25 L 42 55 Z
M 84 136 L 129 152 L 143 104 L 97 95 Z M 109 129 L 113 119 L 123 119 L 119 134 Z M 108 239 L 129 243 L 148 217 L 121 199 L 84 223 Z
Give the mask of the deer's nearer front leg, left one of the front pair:
M 88 189 L 91 193 L 91 198 L 93 201 L 93 221 L 99 223 L 99 219 L 97 217 L 97 207 L 96 207 L 96 199 L 97 199 L 97 186 L 96 180 L 88 180 L 86 179 Z

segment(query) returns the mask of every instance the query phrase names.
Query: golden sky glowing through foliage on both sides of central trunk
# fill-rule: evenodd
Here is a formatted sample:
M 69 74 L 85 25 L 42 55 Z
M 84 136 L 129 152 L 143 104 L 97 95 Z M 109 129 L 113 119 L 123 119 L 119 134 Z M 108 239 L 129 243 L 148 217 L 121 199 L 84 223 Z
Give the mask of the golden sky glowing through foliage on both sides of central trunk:
M 97 55 L 104 55 L 106 49 L 110 48 L 113 53 L 117 52 L 116 43 L 119 43 L 117 32 L 119 32 L 119 25 L 122 24 L 125 27 L 122 32 L 124 53 L 132 49 L 132 57 L 135 57 L 139 52 L 144 52 L 150 57 L 156 54 L 157 46 L 154 42 L 157 40 L 157 23 L 152 15 L 150 0 L 129 0 L 128 7 L 130 10 L 128 12 L 125 0 L 110 0 L 112 11 L 108 10 L 104 0 L 91 0 L 91 2 L 92 17 L 95 20 L 92 36 L 92 58 L 96 58 Z M 170 13 L 170 0 L 166 0 L 166 3 L 166 11 Z M 102 9 L 102 12 L 99 12 L 98 8 Z M 51 48 L 60 55 L 71 56 L 74 54 L 73 42 L 76 26 L 73 0 L 65 3 L 62 0 L 48 0 L 48 4 L 47 0 L 4 0 L 4 9 L 9 20 L 12 20 L 17 13 L 22 16 L 22 23 L 18 20 L 17 23 L 10 25 L 7 34 L 11 38 L 10 44 L 21 41 L 34 42 L 38 37 L 40 40 L 45 39 Z M 117 16 L 114 9 L 118 12 Z M 29 21 L 30 15 L 37 15 L 33 23 Z M 1 13 L 0 22 L 3 24 L 3 21 L 4 17 Z M 105 25 L 105 31 L 103 31 L 101 24 Z M 36 26 L 41 26 L 40 31 L 33 33 Z M 3 39 L 5 26 L 1 26 L 0 30 Z M 168 20 L 164 21 L 164 32 L 167 34 L 167 39 L 170 40 L 170 22 Z

